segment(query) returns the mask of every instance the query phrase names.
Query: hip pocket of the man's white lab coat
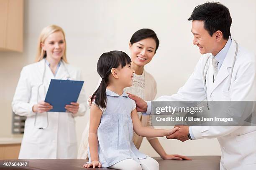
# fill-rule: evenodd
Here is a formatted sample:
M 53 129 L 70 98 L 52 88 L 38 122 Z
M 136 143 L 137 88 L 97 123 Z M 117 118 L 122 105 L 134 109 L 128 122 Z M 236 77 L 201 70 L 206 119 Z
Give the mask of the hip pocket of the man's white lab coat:
M 246 165 L 256 164 L 256 131 L 238 135 L 236 141 Z

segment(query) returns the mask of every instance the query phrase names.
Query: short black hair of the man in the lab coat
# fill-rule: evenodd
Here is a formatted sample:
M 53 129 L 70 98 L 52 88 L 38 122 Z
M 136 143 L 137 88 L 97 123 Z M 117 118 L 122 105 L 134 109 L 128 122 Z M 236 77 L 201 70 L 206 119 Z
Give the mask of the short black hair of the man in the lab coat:
M 220 4 L 220 2 L 206 2 L 198 5 L 188 20 L 204 21 L 204 28 L 209 32 L 210 36 L 218 30 L 222 32 L 225 40 L 228 40 L 231 36 L 232 18 L 228 8 Z

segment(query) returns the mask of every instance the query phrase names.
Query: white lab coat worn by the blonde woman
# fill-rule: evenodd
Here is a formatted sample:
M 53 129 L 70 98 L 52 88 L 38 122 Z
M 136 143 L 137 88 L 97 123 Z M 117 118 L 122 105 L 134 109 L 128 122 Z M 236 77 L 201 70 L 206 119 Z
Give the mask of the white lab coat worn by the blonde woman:
M 38 86 L 42 83 L 44 69 L 44 82 L 38 89 Z M 77 101 L 80 104 L 77 114 L 48 112 L 49 126 L 45 129 L 38 129 L 38 127 L 46 127 L 46 112 L 37 114 L 35 127 L 36 114 L 32 111 L 34 104 L 45 99 L 51 79 L 67 80 L 68 74 L 70 80 L 81 80 L 81 74 L 78 69 L 62 62 L 55 77 L 45 63 L 45 59 L 23 67 L 12 102 L 13 112 L 27 117 L 19 159 L 77 157 L 77 136 L 74 117 L 84 115 L 87 110 L 87 97 L 85 96 L 84 88 L 82 88 Z

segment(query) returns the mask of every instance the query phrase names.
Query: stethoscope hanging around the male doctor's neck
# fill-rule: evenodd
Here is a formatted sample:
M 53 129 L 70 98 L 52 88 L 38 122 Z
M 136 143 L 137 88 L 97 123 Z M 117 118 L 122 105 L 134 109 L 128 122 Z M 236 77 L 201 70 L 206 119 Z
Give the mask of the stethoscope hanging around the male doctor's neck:
M 236 40 L 234 40 L 236 42 Z M 236 56 L 237 56 L 237 52 L 238 52 L 238 43 L 236 42 L 236 53 L 235 53 L 235 57 L 234 57 L 234 60 L 233 60 L 233 65 L 231 67 L 231 74 L 229 76 L 229 87 L 228 87 L 228 91 L 230 90 L 230 87 L 231 87 L 231 78 L 232 78 L 232 73 L 233 73 L 233 68 L 234 68 L 234 65 L 235 65 L 235 62 L 236 62 Z M 208 105 L 208 100 L 207 100 L 207 86 L 206 86 L 206 74 L 207 74 L 207 71 L 209 69 L 210 66 L 208 66 L 207 70 L 205 71 L 205 67 L 208 63 L 208 60 L 209 60 L 210 57 L 207 58 L 207 61 L 205 62 L 205 66 L 204 66 L 204 69 L 202 70 L 202 75 L 203 76 L 203 82 L 204 82 L 204 87 L 205 87 L 205 97 L 206 97 L 206 104 L 207 104 L 207 108 L 208 110 L 210 110 L 210 107 Z M 210 64 L 208 64 L 210 65 Z

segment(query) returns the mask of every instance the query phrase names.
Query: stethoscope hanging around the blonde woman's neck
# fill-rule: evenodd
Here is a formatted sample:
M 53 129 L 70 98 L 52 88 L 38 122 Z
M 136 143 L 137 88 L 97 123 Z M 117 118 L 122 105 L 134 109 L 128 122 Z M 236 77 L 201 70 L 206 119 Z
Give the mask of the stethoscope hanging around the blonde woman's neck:
M 46 92 L 46 89 L 45 89 L 45 85 L 44 85 L 44 76 L 45 76 L 45 71 L 46 71 L 46 59 L 44 58 L 44 72 L 43 72 L 43 76 L 42 76 L 42 82 L 41 84 L 38 86 L 38 89 L 37 89 L 37 103 L 39 102 L 39 89 L 41 86 L 44 86 L 44 94 Z M 67 67 L 66 65 L 64 64 L 64 62 L 61 60 L 61 64 L 64 66 L 64 70 L 67 72 L 67 80 L 69 80 L 70 76 L 69 76 L 69 72 L 67 70 Z M 36 127 L 36 117 L 37 117 L 37 112 L 36 112 L 36 116 L 35 116 L 35 121 L 34 121 L 34 127 L 35 128 L 38 128 L 38 129 L 46 129 L 48 126 L 49 126 L 49 118 L 48 118 L 48 112 L 46 112 L 46 117 L 47 117 L 47 124 L 45 127 Z

